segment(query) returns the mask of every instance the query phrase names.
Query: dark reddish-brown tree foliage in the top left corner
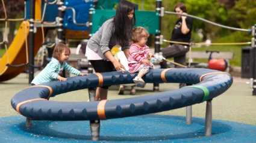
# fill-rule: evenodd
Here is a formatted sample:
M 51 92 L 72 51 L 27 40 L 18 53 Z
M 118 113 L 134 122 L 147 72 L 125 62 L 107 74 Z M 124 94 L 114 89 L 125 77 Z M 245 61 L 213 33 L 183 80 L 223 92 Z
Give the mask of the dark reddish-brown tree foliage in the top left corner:
M 5 10 L 4 10 L 5 6 Z M 4 6 L 0 7 L 0 18 L 5 19 L 5 11 L 7 13 L 8 19 L 17 19 L 22 17 L 22 13 L 24 10 L 24 1 L 16 1 L 16 0 L 4 0 Z M 5 26 L 5 22 L 1 22 L 1 26 Z M 8 22 L 8 27 L 10 29 L 8 34 L 8 46 L 11 44 L 14 38 L 14 31 L 16 29 L 16 22 L 11 21 Z

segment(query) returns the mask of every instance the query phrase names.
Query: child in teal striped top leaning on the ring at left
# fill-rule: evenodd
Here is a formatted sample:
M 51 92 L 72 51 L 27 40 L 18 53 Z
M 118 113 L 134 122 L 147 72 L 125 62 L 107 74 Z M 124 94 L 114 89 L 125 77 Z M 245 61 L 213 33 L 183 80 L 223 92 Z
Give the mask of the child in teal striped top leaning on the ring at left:
M 52 80 L 66 81 L 67 78 L 61 77 L 63 69 L 75 75 L 88 75 L 81 73 L 66 63 L 69 59 L 69 54 L 69 47 L 62 43 L 57 44 L 54 48 L 51 62 L 34 78 L 31 85 L 34 86 Z

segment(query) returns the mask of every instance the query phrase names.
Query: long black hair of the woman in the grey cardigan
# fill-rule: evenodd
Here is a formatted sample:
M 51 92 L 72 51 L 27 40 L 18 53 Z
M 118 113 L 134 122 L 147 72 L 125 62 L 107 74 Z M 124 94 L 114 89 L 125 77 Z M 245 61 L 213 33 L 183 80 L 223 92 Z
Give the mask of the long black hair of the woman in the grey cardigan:
M 115 29 L 114 35 L 116 36 L 117 42 L 119 42 L 119 44 L 130 41 L 133 26 L 136 25 L 135 13 L 133 14 L 132 20 L 128 18 L 128 13 L 132 10 L 135 10 L 134 4 L 126 0 L 121 0 L 117 5 L 113 26 Z

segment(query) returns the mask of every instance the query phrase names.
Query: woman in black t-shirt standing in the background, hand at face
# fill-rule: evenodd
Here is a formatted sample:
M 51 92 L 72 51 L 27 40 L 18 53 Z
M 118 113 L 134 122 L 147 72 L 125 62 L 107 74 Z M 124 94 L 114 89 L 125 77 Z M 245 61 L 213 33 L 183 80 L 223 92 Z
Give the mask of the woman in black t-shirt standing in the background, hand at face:
M 179 2 L 175 5 L 174 11 L 180 14 L 187 14 L 187 8 L 182 2 Z M 177 17 L 179 19 L 177 20 L 176 25 L 172 30 L 172 37 L 170 38 L 170 41 L 190 42 L 193 28 L 192 18 L 180 15 L 177 15 Z M 181 65 L 186 65 L 187 51 L 189 51 L 189 45 L 187 44 L 170 43 L 169 47 L 161 49 L 161 52 L 165 58 L 173 57 L 174 62 L 180 63 Z M 180 67 L 175 65 L 175 68 Z M 186 86 L 186 84 L 181 83 L 180 87 L 183 86 Z

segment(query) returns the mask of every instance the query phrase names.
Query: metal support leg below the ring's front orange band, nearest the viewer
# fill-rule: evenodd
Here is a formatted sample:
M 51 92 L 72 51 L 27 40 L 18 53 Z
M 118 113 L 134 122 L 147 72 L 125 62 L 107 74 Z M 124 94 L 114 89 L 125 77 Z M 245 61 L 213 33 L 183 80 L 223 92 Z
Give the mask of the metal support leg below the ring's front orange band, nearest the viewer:
M 89 88 L 89 99 L 95 101 L 96 87 Z M 90 120 L 90 129 L 92 133 L 92 141 L 99 141 L 99 127 L 101 126 L 100 120 Z

